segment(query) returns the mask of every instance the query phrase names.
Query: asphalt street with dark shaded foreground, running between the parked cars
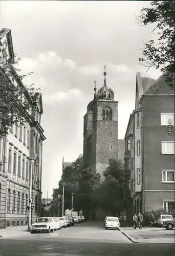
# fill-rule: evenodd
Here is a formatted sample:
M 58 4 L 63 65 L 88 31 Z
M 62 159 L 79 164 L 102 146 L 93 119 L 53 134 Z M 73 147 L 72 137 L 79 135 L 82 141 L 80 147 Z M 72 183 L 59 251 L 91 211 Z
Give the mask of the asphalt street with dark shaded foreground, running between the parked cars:
M 80 223 L 54 233 L 25 232 L 1 238 L 1 256 L 173 256 L 173 244 L 134 244 L 119 230 L 105 230 L 103 223 Z

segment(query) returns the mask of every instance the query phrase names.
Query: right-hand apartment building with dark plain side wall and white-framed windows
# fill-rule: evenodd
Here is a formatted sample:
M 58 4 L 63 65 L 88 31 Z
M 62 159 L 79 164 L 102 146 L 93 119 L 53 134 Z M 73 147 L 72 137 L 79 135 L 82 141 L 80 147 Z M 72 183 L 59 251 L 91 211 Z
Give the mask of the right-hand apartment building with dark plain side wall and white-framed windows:
M 125 134 L 126 215 L 174 208 L 174 91 L 161 76 L 136 77 Z

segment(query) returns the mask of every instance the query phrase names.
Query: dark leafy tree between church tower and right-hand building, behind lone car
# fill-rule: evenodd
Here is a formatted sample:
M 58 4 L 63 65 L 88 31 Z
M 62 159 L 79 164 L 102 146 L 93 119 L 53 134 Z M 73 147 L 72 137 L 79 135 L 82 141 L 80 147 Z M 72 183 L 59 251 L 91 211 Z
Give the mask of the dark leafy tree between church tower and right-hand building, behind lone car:
M 110 159 L 104 171 L 105 180 L 100 187 L 101 208 L 108 214 L 120 215 L 123 208 L 124 166 L 121 160 Z

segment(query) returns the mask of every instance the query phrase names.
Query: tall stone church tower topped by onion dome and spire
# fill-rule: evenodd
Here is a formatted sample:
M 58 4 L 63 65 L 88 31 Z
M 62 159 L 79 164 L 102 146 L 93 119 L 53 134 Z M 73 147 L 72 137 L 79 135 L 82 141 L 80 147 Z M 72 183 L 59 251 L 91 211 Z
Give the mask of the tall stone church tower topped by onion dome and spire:
M 83 156 L 84 165 L 93 167 L 102 176 L 109 159 L 118 159 L 118 101 L 114 100 L 113 90 L 106 86 L 105 67 L 103 87 L 97 94 L 96 86 L 94 90 L 94 100 L 88 104 L 84 116 Z

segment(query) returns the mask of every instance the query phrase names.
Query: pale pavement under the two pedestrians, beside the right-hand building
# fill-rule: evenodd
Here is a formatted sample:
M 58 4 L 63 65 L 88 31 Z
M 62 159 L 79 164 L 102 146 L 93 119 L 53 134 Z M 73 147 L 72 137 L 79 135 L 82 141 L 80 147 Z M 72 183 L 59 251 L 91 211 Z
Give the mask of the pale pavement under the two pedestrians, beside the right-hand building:
M 120 231 L 134 243 L 165 243 L 174 244 L 174 229 L 143 227 L 134 230 L 133 227 L 121 227 Z

